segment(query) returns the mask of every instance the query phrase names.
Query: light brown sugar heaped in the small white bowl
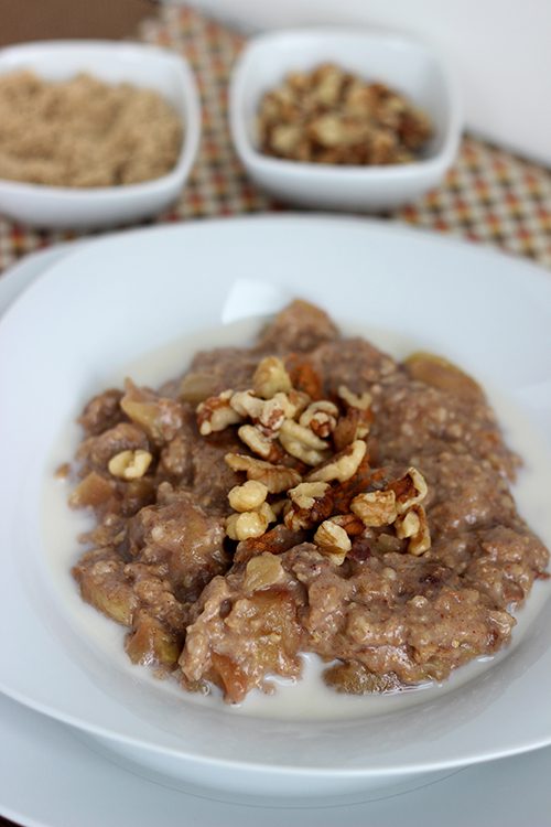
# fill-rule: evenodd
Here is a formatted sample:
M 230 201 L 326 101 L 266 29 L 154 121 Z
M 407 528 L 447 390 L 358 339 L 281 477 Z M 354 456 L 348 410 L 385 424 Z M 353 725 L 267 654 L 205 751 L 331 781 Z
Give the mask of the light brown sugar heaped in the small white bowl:
M 114 186 L 166 174 L 182 122 L 156 93 L 79 74 L 50 83 L 0 76 L 0 179 L 51 186 Z

